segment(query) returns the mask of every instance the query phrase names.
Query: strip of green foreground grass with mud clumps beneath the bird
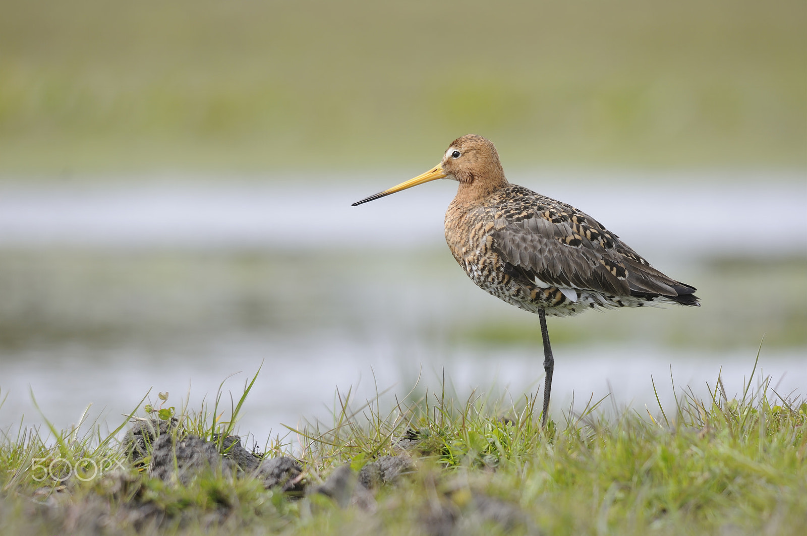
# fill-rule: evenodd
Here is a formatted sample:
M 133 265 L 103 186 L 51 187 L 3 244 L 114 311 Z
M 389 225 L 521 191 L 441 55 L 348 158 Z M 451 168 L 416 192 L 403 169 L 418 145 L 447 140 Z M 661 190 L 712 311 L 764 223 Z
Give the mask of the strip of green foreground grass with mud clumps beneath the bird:
M 658 414 L 607 418 L 590 400 L 546 429 L 529 396 L 410 393 L 383 408 L 337 393 L 332 423 L 290 429 L 262 453 L 232 434 L 251 383 L 227 421 L 221 396 L 196 412 L 133 412 L 162 431 L 140 458 L 130 419 L 106 437 L 6 429 L 0 523 L 9 534 L 803 534 L 807 402 L 752 380 L 731 398 L 720 379 L 705 400 L 682 391 Z M 193 445 L 207 461 L 182 454 Z M 165 452 L 173 464 L 155 471 Z

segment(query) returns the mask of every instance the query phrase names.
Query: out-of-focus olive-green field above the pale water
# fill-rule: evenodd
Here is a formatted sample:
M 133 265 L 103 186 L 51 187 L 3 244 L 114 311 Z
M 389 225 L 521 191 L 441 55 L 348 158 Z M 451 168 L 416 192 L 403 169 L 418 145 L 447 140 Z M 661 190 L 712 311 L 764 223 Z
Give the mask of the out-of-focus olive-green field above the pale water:
M 804 2 L 4 2 L 0 171 L 797 165 Z

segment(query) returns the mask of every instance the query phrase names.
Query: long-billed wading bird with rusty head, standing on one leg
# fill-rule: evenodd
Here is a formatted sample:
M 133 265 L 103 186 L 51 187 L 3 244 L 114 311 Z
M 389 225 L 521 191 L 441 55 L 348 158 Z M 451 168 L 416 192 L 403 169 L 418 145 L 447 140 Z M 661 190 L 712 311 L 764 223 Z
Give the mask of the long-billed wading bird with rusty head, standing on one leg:
M 495 146 L 482 136 L 454 140 L 440 165 L 353 206 L 437 178 L 459 182 L 445 213 L 445 241 L 459 265 L 485 291 L 541 319 L 544 421 L 554 370 L 545 314 L 656 303 L 698 305 L 694 287 L 650 266 L 591 216 L 510 184 Z

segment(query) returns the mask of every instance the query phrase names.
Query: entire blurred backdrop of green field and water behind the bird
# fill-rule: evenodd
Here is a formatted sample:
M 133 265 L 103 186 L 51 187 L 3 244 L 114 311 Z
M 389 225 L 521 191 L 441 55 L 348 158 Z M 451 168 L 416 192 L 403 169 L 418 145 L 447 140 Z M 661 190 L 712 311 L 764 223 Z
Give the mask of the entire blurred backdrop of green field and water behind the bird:
M 550 319 L 556 411 L 652 405 L 651 374 L 731 390 L 763 337 L 803 389 L 805 22 L 804 0 L 0 0 L 0 431 L 38 415 L 29 387 L 56 425 L 116 421 L 261 362 L 259 434 L 362 377 L 534 391 L 537 317 L 445 249 L 454 183 L 350 207 L 468 132 L 703 299 Z

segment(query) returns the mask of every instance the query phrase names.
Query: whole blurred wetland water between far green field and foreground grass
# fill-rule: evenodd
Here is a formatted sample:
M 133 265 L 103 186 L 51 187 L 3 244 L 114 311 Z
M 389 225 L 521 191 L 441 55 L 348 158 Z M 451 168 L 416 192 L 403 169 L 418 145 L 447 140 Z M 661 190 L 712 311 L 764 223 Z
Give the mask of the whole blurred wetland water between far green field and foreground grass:
M 198 407 L 244 371 L 225 384 L 237 397 L 261 362 L 242 421 L 260 442 L 270 429 L 284 433 L 280 423 L 327 416 L 337 387 L 358 386 L 361 398 L 395 386 L 403 396 L 420 371 L 421 389 L 437 388 L 445 371 L 461 394 L 534 391 L 539 345 L 467 337 L 491 324 L 533 329 L 537 319 L 454 266 L 442 236 L 454 183 L 349 206 L 403 178 L 0 187 L 0 427 L 23 413 L 41 421 L 29 387 L 59 427 L 90 402 L 114 427 L 149 387 L 153 399 L 169 391 L 172 405 L 190 393 Z M 730 394 L 740 391 L 763 333 L 773 341 L 763 371 L 783 395 L 804 392 L 805 345 L 798 334 L 792 342 L 804 327 L 802 265 L 777 272 L 765 258 L 805 257 L 807 186 L 784 174 L 740 179 L 512 179 L 589 212 L 697 283 L 705 300 L 699 310 L 553 320 L 555 412 L 572 392 L 580 401 L 611 388 L 617 405 L 654 411 L 650 375 L 667 404 L 670 373 L 705 394 L 722 369 Z M 763 264 L 746 274 L 704 261 L 725 257 Z M 775 293 L 759 285 L 772 274 Z

